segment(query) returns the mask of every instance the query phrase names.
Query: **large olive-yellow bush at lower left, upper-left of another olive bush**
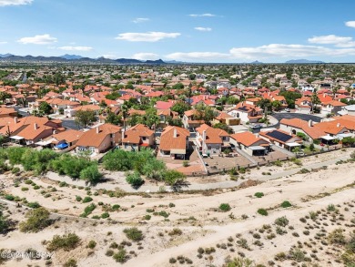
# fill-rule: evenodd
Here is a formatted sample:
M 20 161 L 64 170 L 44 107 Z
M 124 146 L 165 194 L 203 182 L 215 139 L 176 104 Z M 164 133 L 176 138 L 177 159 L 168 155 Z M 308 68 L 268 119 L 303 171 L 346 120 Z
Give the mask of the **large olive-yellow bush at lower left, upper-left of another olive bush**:
M 38 208 L 32 211 L 28 211 L 25 214 L 26 221 L 20 223 L 20 231 L 25 232 L 37 232 L 45 229 L 51 224 L 49 220 L 49 211 L 45 208 Z

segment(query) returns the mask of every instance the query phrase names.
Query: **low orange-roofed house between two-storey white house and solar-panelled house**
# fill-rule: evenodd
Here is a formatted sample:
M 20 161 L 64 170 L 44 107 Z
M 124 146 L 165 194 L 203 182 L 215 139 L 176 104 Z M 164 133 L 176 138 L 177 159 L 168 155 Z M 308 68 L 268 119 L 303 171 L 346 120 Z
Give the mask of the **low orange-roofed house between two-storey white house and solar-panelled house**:
M 250 156 L 263 156 L 269 152 L 270 144 L 265 139 L 260 139 L 249 131 L 230 135 L 232 148 L 242 149 Z

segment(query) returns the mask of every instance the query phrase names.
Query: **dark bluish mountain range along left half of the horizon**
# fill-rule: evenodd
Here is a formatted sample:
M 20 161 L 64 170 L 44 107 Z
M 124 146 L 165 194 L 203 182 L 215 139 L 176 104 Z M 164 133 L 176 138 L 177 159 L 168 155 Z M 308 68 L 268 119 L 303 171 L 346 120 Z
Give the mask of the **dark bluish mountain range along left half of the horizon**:
M 166 64 L 161 59 L 157 60 L 138 60 L 134 58 L 118 58 L 109 59 L 105 57 L 90 58 L 77 55 L 64 55 L 64 56 L 15 56 L 12 54 L 0 54 L 0 61 L 13 61 L 13 62 L 73 62 L 73 63 L 106 63 L 106 64 Z

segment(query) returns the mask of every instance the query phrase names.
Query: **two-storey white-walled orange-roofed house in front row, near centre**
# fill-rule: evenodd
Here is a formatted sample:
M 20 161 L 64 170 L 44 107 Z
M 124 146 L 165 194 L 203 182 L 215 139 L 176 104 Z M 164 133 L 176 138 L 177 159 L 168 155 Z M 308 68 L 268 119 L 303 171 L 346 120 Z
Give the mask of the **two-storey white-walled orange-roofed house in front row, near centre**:
M 224 149 L 229 149 L 229 135 L 224 129 L 212 128 L 202 124 L 196 128 L 196 145 L 202 155 L 218 155 Z

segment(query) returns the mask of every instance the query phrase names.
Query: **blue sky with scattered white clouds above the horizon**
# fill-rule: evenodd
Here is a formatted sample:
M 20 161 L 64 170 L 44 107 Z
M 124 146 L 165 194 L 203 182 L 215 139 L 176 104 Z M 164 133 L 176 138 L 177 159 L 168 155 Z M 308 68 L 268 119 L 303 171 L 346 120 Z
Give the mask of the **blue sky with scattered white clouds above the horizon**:
M 355 62 L 354 0 L 0 0 L 0 54 Z

